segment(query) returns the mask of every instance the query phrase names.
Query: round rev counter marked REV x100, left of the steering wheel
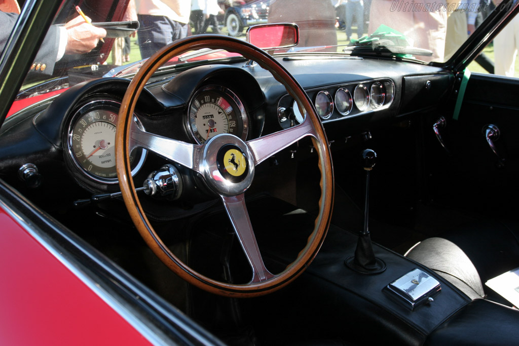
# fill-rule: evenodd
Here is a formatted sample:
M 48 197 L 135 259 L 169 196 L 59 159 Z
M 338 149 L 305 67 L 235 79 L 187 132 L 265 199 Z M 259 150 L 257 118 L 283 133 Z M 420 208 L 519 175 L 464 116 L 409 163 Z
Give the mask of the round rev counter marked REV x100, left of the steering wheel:
M 69 126 L 67 145 L 69 154 L 81 172 L 98 182 L 117 183 L 115 170 L 115 132 L 120 104 L 97 100 L 81 107 Z M 137 117 L 134 121 L 142 128 Z M 132 151 L 132 173 L 142 166 L 146 150 Z

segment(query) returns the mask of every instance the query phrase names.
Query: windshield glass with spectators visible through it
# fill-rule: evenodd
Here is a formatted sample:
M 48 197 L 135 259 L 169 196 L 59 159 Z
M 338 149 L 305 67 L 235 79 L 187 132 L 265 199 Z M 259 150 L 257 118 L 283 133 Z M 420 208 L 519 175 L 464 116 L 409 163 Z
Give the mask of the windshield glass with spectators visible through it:
M 0 14 L 13 26 L 17 8 L 8 3 L 16 1 L 4 1 Z M 131 75 L 142 59 L 188 35 L 245 39 L 248 27 L 264 23 L 299 27 L 296 47 L 272 53 L 375 52 L 417 63 L 445 62 L 493 7 L 486 0 L 65 0 L 17 99 Z M 228 57 L 206 51 L 173 63 Z

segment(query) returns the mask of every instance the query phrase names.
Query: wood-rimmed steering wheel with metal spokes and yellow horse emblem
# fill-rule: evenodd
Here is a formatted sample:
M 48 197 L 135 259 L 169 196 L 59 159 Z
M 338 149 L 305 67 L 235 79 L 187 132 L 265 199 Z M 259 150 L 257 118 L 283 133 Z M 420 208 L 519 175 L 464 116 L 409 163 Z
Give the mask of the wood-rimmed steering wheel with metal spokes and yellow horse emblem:
M 307 109 L 305 120 L 290 129 L 267 134 L 248 142 L 243 142 L 234 135 L 221 134 L 201 145 L 171 140 L 132 125 L 134 121 L 131 121 L 131 118 L 136 101 L 157 68 L 173 57 L 200 48 L 225 49 L 256 61 L 285 86 L 299 105 Z M 258 296 L 274 292 L 293 281 L 316 256 L 331 218 L 334 177 L 330 149 L 319 117 L 303 88 L 263 50 L 245 41 L 224 36 L 197 35 L 176 41 L 149 58 L 133 77 L 122 100 L 117 128 L 122 129 L 117 131 L 116 135 L 117 174 L 122 196 L 133 223 L 153 252 L 184 280 L 215 294 L 234 297 Z M 315 228 L 297 258 L 282 272 L 272 274 L 265 268 L 262 255 L 258 250 L 245 206 L 244 191 L 252 183 L 254 167 L 257 164 L 306 136 L 312 139 L 313 146 L 316 148 L 321 170 L 319 214 L 315 221 Z M 204 177 L 207 185 L 220 195 L 253 272 L 249 283 L 230 284 L 208 278 L 184 264 L 162 242 L 142 209 L 131 178 L 129 153 L 137 146 L 198 172 Z M 223 158 L 226 163 L 234 164 L 236 172 L 229 174 L 233 166 L 227 167 L 228 171 L 222 168 Z

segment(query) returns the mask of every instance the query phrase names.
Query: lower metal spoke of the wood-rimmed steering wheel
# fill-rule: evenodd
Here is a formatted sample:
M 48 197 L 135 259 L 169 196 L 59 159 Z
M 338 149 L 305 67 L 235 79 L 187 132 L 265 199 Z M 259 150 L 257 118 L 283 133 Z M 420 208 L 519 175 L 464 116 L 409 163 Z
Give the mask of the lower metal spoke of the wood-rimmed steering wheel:
M 260 248 L 258 248 L 256 237 L 252 230 L 251 220 L 249 219 L 249 213 L 245 205 L 244 194 L 221 197 L 241 248 L 252 269 L 252 279 L 249 283 L 258 283 L 274 278 L 276 275 L 270 273 L 267 268 L 265 268 Z

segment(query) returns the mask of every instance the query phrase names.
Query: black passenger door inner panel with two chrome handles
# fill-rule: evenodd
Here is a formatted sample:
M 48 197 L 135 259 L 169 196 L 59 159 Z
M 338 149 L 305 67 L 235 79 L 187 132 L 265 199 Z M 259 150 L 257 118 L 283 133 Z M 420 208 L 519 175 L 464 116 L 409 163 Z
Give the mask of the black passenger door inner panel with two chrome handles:
M 440 146 L 433 122 L 444 115 L 441 129 L 450 155 Z M 519 80 L 474 74 L 457 120 L 438 114 L 425 124 L 424 162 L 428 198 L 476 217 L 514 217 L 519 192 Z M 484 127 L 493 124 L 501 162 L 485 140 Z

